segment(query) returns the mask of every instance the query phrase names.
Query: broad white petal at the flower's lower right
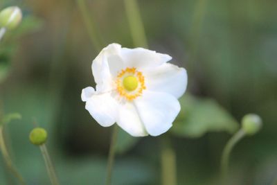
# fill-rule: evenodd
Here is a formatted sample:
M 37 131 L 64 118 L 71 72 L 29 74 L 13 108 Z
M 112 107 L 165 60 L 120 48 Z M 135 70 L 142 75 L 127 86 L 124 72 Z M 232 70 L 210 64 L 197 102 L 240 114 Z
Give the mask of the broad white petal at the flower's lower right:
M 181 109 L 177 98 L 163 92 L 145 90 L 134 103 L 147 132 L 152 136 L 168 131 Z

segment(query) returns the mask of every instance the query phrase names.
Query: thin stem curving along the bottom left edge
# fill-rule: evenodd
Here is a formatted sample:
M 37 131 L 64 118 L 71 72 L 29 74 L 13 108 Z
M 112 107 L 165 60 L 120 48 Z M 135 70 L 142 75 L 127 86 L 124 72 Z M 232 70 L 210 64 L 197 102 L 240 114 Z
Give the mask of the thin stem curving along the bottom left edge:
M 15 167 L 12 165 L 12 159 L 10 159 L 10 155 L 8 153 L 8 150 L 6 148 L 6 144 L 3 138 L 3 125 L 0 126 L 0 149 L 3 155 L 4 160 L 6 161 L 6 165 L 8 166 L 8 169 L 10 172 L 17 177 L 19 180 L 20 184 L 26 185 L 23 177 L 17 172 Z

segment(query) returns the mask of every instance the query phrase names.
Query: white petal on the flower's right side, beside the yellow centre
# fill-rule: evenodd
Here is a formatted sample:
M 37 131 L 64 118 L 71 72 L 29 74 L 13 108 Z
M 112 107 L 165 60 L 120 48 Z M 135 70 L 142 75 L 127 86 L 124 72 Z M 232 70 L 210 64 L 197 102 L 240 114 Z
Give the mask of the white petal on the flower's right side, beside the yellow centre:
M 176 98 L 184 94 L 188 84 L 186 69 L 174 64 L 162 64 L 151 71 L 145 71 L 143 75 L 148 90 L 166 92 Z

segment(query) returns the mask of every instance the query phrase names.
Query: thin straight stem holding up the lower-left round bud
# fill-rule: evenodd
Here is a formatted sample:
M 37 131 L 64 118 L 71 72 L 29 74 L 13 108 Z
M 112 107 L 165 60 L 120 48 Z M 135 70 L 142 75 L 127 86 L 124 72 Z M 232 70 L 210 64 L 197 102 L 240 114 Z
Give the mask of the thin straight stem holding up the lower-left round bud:
M 48 154 L 48 150 L 46 148 L 45 144 L 42 144 L 39 146 L 40 150 L 42 151 L 42 156 L 44 157 L 44 162 L 46 165 L 47 173 L 50 178 L 51 184 L 52 185 L 59 185 L 59 182 L 57 180 L 57 175 L 55 173 L 55 168 L 52 164 L 52 161 L 50 159 L 50 156 Z

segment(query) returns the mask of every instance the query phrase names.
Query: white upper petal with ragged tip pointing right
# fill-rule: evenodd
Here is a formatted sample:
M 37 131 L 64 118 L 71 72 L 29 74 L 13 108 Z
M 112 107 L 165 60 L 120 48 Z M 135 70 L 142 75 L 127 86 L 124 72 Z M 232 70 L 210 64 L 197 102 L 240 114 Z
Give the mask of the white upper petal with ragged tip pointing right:
M 136 67 L 139 71 L 157 67 L 172 59 L 170 55 L 156 53 L 156 51 L 143 48 L 123 48 L 121 55 L 127 67 Z

